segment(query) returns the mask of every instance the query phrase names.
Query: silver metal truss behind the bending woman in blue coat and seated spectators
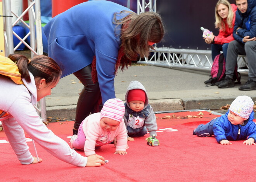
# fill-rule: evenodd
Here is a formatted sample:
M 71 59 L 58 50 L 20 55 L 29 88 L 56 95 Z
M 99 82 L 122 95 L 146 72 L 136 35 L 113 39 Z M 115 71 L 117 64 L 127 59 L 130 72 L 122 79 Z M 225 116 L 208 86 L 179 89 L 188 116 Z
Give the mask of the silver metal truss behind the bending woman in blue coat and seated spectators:
M 137 0 L 137 13 L 140 14 L 146 10 L 156 12 L 156 0 Z M 155 50 L 151 50 L 151 56 L 144 60 L 140 58 L 138 63 L 166 68 L 210 71 L 213 60 L 211 51 L 208 50 L 157 48 L 157 44 L 155 44 Z M 237 64 L 240 73 L 248 73 L 246 56 L 239 55 Z

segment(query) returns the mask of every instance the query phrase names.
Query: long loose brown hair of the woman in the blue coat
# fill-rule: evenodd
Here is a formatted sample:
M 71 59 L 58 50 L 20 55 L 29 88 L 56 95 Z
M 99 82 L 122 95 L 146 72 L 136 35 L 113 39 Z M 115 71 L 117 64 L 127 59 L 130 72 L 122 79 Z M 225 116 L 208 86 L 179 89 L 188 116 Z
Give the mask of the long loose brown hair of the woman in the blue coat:
M 127 14 L 127 15 L 126 15 Z M 122 19 L 117 19 L 118 15 L 126 15 Z M 125 56 L 129 60 L 136 60 L 140 57 L 149 56 L 148 42 L 159 43 L 164 36 L 164 26 L 161 16 L 155 12 L 144 12 L 136 14 L 129 11 L 121 11 L 114 14 L 114 24 L 128 24 L 121 30 L 121 45 Z

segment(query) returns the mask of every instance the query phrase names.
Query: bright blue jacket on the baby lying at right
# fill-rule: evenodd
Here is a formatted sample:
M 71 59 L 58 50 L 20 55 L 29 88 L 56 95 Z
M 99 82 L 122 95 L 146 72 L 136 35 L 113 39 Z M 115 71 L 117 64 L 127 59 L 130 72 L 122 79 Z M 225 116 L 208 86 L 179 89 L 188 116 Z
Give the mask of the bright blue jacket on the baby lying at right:
M 221 140 L 227 139 L 231 141 L 246 140 L 253 138 L 256 141 L 256 124 L 253 122 L 254 112 L 252 112 L 249 118 L 244 121 L 244 125 L 234 125 L 228 121 L 228 112 L 216 118 L 213 124 L 213 133 L 218 143 Z M 240 129 L 240 134 L 239 134 Z M 247 138 L 248 137 L 248 138 Z

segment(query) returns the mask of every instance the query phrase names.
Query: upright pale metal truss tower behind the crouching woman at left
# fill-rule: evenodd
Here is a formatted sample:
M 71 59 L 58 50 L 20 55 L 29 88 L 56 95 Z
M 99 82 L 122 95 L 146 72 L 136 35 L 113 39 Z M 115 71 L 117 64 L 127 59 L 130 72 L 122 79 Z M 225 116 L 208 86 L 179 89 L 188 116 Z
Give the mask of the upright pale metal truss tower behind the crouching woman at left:
M 42 42 L 42 26 L 41 26 L 41 11 L 40 11 L 40 0 L 28 0 L 28 8 L 22 12 L 21 15 L 17 15 L 11 10 L 10 0 L 3 0 L 3 34 L 4 34 L 4 49 L 1 50 L 4 56 L 13 54 L 14 51 L 23 43 L 30 51 L 31 58 L 36 55 L 43 54 L 43 42 Z M 28 12 L 29 15 L 29 25 L 22 20 L 22 17 Z M 12 16 L 17 17 L 14 23 L 12 23 Z M 29 29 L 28 34 L 24 38 L 19 37 L 12 27 L 21 22 L 22 26 Z M 19 43 L 14 48 L 13 35 L 19 39 Z M 26 39 L 30 36 L 30 45 L 26 43 Z M 38 114 L 40 115 L 42 121 L 46 121 L 46 104 L 45 98 L 37 102 L 35 106 Z

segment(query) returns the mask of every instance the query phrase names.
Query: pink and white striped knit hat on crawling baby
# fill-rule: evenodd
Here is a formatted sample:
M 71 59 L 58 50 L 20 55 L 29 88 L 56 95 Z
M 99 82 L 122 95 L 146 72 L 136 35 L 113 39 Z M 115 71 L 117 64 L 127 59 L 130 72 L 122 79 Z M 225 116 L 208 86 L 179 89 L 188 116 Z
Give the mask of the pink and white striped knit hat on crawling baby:
M 100 111 L 100 119 L 108 117 L 121 122 L 125 115 L 125 105 L 120 99 L 109 99 L 103 105 Z

